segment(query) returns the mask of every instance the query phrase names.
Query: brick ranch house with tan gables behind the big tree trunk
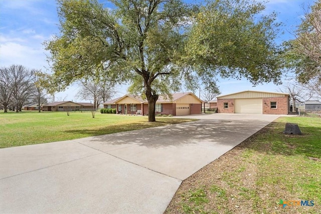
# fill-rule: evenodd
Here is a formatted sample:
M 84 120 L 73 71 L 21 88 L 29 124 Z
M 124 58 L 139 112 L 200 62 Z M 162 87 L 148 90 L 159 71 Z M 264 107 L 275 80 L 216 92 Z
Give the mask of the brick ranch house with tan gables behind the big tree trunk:
M 191 92 L 174 93 L 173 99 L 159 96 L 156 101 L 156 114 L 171 114 L 174 116 L 201 114 L 202 100 Z M 148 114 L 148 102 L 137 95 L 124 95 L 104 103 L 104 108 L 116 108 L 117 114 Z

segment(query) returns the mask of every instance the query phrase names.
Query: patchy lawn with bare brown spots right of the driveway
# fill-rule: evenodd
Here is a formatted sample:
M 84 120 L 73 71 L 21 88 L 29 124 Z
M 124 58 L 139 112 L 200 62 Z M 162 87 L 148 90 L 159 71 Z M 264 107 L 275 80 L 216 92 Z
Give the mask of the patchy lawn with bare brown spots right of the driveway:
M 284 135 L 286 122 L 302 135 Z M 280 200 L 313 206 L 284 208 Z M 166 213 L 321 213 L 321 118 L 283 117 L 184 180 Z

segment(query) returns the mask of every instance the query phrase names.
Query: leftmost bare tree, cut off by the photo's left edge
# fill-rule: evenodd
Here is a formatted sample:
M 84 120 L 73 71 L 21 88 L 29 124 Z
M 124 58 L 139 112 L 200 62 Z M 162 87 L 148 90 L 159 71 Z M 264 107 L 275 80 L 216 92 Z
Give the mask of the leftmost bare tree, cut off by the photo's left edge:
M 12 101 L 11 80 L 10 70 L 6 67 L 0 68 L 0 104 L 4 107 L 5 112 L 8 112 Z

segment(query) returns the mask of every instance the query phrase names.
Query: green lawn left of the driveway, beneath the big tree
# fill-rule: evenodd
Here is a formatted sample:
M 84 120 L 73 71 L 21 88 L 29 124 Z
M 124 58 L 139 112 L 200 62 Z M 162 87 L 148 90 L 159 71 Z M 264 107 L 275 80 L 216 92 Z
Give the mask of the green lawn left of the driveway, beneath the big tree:
M 0 148 L 71 140 L 101 134 L 193 121 L 161 117 L 149 123 L 146 116 L 125 116 L 96 112 L 0 113 Z

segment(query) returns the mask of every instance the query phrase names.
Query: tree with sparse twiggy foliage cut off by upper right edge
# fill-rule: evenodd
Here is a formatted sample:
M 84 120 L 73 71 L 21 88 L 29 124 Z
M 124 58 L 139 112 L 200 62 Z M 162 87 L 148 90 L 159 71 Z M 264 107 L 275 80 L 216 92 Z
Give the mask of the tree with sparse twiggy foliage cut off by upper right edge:
M 313 79 L 312 82 L 321 83 L 320 44 L 321 0 L 318 0 L 306 12 L 296 31 L 296 38 L 285 43 L 288 67 L 295 70 L 298 82 L 305 84 Z

